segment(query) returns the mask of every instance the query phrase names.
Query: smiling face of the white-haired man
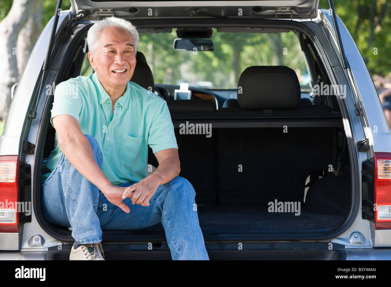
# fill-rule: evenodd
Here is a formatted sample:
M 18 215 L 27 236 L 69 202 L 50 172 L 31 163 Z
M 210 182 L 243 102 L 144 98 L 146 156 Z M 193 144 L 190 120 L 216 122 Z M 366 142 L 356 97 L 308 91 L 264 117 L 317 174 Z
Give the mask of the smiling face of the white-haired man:
M 126 30 L 107 27 L 99 37 L 97 55 L 88 52 L 92 68 L 104 86 L 126 86 L 136 66 L 135 46 Z

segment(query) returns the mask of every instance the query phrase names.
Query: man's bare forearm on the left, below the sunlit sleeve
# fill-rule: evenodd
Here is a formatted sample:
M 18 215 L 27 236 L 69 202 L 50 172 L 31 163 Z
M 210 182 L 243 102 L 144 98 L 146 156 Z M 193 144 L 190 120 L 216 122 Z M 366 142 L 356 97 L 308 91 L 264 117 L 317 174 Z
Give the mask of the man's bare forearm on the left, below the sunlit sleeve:
M 94 159 L 90 141 L 77 134 L 59 142 L 59 148 L 72 166 L 102 192 L 112 186 Z

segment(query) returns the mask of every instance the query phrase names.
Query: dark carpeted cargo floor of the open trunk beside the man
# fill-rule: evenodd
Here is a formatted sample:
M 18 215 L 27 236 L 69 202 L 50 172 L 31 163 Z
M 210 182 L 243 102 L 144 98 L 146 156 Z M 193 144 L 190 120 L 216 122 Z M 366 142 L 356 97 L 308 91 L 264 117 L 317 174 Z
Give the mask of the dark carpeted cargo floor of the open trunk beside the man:
M 199 205 L 198 219 L 202 230 L 292 230 L 330 228 L 344 217 L 311 214 L 301 208 L 294 212 L 268 212 L 268 206 Z M 164 230 L 161 223 L 144 230 Z

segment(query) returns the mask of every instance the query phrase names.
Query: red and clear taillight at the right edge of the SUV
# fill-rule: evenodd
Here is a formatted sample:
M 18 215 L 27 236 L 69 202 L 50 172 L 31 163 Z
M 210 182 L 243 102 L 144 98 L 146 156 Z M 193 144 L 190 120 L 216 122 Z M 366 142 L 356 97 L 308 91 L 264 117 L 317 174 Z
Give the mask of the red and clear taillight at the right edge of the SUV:
M 391 153 L 375 154 L 375 229 L 391 229 Z

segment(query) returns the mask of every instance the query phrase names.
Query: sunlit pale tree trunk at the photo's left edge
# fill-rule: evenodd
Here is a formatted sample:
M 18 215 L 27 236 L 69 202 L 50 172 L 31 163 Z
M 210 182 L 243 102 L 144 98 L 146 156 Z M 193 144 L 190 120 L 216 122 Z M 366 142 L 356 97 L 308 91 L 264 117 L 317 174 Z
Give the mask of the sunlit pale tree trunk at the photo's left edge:
M 7 117 L 11 103 L 11 87 L 18 81 L 16 42 L 35 1 L 14 0 L 8 15 L 0 23 L 0 119 Z

